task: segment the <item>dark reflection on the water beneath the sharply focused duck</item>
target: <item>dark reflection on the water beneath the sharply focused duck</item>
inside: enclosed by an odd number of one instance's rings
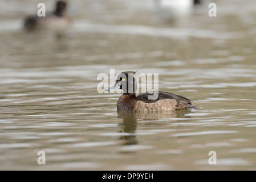
[[[180,110],[171,110],[171,111],[159,111],[147,113],[143,111],[117,111],[117,118],[122,118],[123,123],[119,124],[120,130],[119,133],[124,133],[121,140],[124,140],[124,145],[131,145],[139,143],[137,140],[136,129],[137,129],[137,119],[152,121],[162,119],[162,118],[190,118],[186,114],[191,113],[190,109],[180,109]]]

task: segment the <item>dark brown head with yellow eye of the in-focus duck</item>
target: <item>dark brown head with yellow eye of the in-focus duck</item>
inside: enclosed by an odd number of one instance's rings
[[[137,73],[133,71],[121,72],[116,79],[115,85],[107,89],[107,91],[121,89],[124,94],[134,95],[137,90]]]

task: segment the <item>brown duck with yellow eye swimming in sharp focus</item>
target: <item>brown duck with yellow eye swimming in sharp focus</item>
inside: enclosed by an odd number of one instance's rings
[[[117,100],[117,111],[170,111],[178,109],[199,109],[192,100],[170,92],[153,91],[140,93],[136,96],[137,73],[134,71],[121,72],[115,84],[106,91],[123,90]],[[151,96],[151,98],[149,97]],[[149,99],[150,98],[150,99]]]

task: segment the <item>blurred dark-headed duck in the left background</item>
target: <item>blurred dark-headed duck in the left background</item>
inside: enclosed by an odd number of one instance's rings
[[[56,1],[55,10],[46,12],[46,16],[28,16],[23,24],[25,30],[63,30],[68,28],[72,22],[67,15],[67,2]]]

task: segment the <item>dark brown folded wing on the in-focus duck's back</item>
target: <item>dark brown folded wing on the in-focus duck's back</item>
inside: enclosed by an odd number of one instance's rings
[[[149,96],[153,97],[153,99],[149,99],[150,98]],[[159,100],[168,99],[168,98],[176,100],[178,104],[192,104],[192,101],[186,97],[179,96],[179,95],[176,95],[176,94],[170,93],[170,92],[161,92],[161,91],[159,91],[159,92],[154,91],[151,93],[149,93],[149,92],[141,93],[141,94],[137,95],[136,100],[143,101],[146,103],[152,103],[152,102],[157,102]]]

